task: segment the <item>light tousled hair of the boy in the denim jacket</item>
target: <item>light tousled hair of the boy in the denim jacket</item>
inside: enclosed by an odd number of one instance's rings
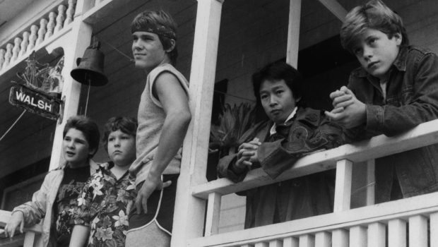
[[[380,0],[368,1],[348,12],[341,27],[341,44],[348,52],[354,54],[355,44],[365,32],[372,28],[384,32],[391,39],[396,33],[401,33],[401,45],[408,45],[408,34],[401,17]]]

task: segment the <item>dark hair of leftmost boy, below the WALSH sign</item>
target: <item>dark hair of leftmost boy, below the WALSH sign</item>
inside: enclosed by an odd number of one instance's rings
[[[88,141],[90,150],[94,150],[93,154],[89,158],[93,157],[99,148],[100,132],[99,127],[92,119],[87,116],[71,116],[67,120],[66,126],[64,126],[64,131],[62,132],[62,138],[66,137],[67,132],[75,128],[81,131]]]

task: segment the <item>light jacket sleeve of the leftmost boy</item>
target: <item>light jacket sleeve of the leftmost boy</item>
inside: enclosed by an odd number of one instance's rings
[[[50,179],[51,174],[45,176],[42,186],[39,191],[36,191],[32,195],[32,201],[19,205],[15,207],[12,212],[20,211],[23,212],[25,227],[32,227],[38,224],[46,214],[47,197],[49,193],[49,188],[51,186]]]

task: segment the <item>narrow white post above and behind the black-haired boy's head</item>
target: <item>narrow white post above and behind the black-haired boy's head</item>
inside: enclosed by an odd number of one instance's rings
[[[301,0],[290,0],[288,47],[286,50],[286,63],[294,68],[298,64],[298,48],[300,43]]]

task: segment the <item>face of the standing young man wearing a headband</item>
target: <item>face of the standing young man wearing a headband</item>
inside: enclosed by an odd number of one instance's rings
[[[158,35],[153,32],[134,32],[132,37],[132,54],[136,68],[151,71],[160,64],[170,63]]]

